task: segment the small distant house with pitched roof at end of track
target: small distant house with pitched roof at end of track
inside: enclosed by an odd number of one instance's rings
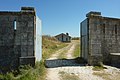
[[[61,42],[71,42],[71,37],[69,36],[68,33],[66,34],[61,33],[59,35],[56,35],[55,38]]]

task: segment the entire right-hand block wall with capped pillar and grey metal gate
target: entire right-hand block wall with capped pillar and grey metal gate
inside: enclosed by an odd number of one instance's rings
[[[103,17],[100,12],[86,17],[81,22],[81,56],[91,65],[120,64],[120,19]]]

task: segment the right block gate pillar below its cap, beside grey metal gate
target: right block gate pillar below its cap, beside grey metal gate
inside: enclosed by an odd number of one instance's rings
[[[102,23],[101,17],[89,17],[89,60],[91,65],[97,65],[103,61],[102,56]]]

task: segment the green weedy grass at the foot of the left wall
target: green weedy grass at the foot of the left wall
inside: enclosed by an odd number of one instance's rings
[[[18,71],[0,74],[0,80],[44,80],[45,67],[43,62],[36,62],[35,67],[21,66]],[[16,75],[17,73],[17,75]]]

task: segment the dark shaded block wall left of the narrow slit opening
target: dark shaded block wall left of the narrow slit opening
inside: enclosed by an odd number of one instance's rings
[[[14,53],[14,20],[16,16],[0,12],[0,69],[7,71],[18,66],[19,53]],[[17,63],[16,63],[17,62]],[[12,63],[12,64],[11,64]],[[0,71],[0,72],[1,72]]]

